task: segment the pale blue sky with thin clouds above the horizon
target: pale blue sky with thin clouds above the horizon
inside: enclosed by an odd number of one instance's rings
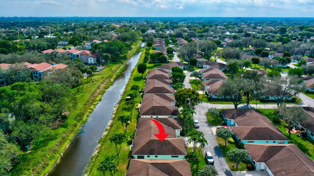
[[[314,17],[314,0],[0,0],[0,16]]]

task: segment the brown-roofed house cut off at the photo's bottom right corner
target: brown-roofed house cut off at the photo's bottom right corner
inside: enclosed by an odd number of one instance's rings
[[[314,162],[294,144],[245,144],[257,171],[269,176],[313,176]]]

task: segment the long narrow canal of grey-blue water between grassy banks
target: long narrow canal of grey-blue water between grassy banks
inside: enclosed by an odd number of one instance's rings
[[[140,46],[144,47],[145,43],[141,43]],[[122,95],[141,53],[142,52],[137,51],[129,59],[124,73],[106,90],[102,101],[95,107],[79,134],[74,138],[69,148],[63,154],[63,158],[61,158],[60,162],[48,176],[84,175],[90,158],[98,145],[98,140],[102,137],[111,119],[113,108]]]

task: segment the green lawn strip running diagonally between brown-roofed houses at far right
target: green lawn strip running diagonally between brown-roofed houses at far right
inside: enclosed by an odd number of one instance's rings
[[[279,123],[276,123],[274,121],[274,109],[258,109],[262,112],[263,115],[269,118],[271,122],[280,130],[282,131],[288,139],[291,141],[289,143],[295,144],[302,152],[307,154],[310,158],[314,159],[314,141],[309,139],[308,137],[299,137],[296,133],[291,133],[289,135],[287,124],[283,121],[280,121]]]

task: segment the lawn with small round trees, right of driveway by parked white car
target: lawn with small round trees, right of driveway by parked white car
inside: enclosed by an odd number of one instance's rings
[[[229,168],[231,171],[236,171],[236,163],[233,163],[229,160],[229,157],[227,156],[227,153],[228,151],[231,151],[233,149],[243,149],[242,147],[240,147],[239,145],[237,145],[237,141],[235,140],[235,142],[230,142],[230,141],[227,141],[227,145],[225,145],[225,140],[223,140],[222,138],[220,137],[217,137],[216,136],[216,139],[217,139],[217,143],[222,151],[222,153],[224,154],[224,156],[226,157],[226,160],[227,160],[227,163],[229,165]],[[246,164],[250,164],[249,162],[247,163],[239,163],[238,165],[238,171],[246,171]]]

